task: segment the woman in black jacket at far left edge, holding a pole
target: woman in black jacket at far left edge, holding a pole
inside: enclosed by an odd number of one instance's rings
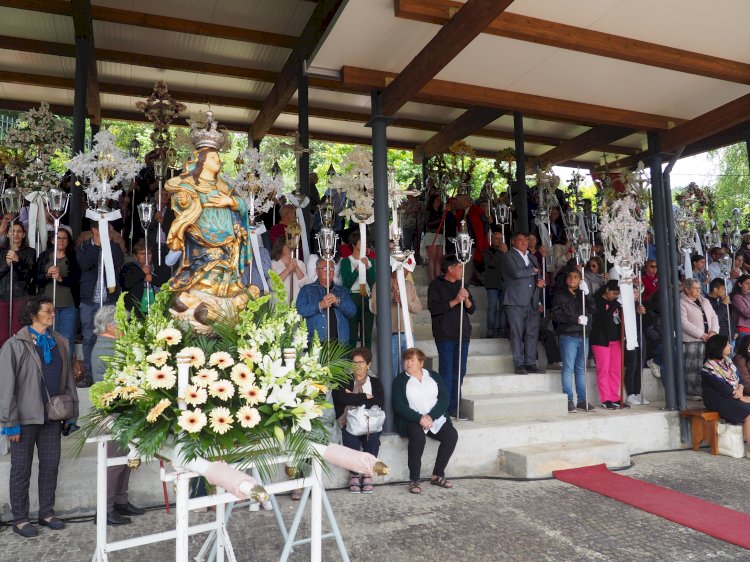
[[[11,272],[13,264],[13,319],[9,326],[11,297]],[[21,329],[21,312],[29,300],[36,294],[34,284],[36,254],[26,242],[26,229],[16,222],[10,232],[5,246],[0,249],[0,345]],[[8,328],[10,328],[10,333]]]

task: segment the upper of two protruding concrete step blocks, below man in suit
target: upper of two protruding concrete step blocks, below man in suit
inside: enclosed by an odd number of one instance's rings
[[[539,391],[462,395],[461,412],[479,422],[562,415],[568,413],[568,399],[559,392]]]

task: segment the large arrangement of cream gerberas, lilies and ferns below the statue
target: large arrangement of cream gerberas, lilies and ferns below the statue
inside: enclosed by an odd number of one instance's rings
[[[283,282],[271,276],[274,292],[283,295]],[[305,351],[304,321],[284,297],[272,302],[264,296],[244,310],[224,311],[213,323],[214,338],[177,324],[169,300],[161,291],[145,319],[129,319],[121,297],[121,335],[105,380],[91,387],[94,409],[83,420],[81,446],[106,427],[146,458],[165,444],[179,445],[187,460],[252,461],[262,470],[279,454],[297,464],[316,456],[310,445],[329,439],[322,418],[331,407],[326,393],[351,372],[346,349],[316,339]],[[190,369],[182,394],[178,356]]]

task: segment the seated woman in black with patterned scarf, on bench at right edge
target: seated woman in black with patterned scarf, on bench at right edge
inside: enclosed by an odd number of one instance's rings
[[[728,423],[742,424],[745,441],[750,443],[750,396],[743,394],[744,387],[729,358],[731,352],[726,336],[717,334],[708,338],[706,362],[701,369],[703,403],[709,410],[719,412]],[[747,456],[750,458],[750,451]]]

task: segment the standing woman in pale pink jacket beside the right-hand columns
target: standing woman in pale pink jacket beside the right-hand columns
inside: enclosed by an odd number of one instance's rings
[[[685,383],[689,400],[700,400],[701,368],[708,338],[719,333],[719,318],[711,303],[701,295],[700,282],[685,279],[680,295],[682,343],[685,351]]]

